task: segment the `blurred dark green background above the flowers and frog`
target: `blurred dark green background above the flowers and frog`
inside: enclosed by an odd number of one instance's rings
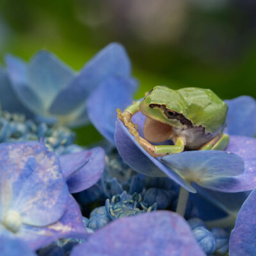
[[[6,52],[29,60],[48,49],[79,70],[117,41],[140,81],[137,99],[157,84],[256,97],[255,31],[252,0],[0,1],[1,63]]]

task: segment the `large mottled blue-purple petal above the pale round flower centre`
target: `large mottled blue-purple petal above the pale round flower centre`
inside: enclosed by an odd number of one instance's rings
[[[68,188],[52,152],[37,142],[1,143],[0,165],[3,214],[17,211],[22,223],[35,226],[60,219]]]

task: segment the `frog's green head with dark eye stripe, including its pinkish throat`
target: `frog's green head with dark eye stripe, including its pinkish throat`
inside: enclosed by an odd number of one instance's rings
[[[140,111],[147,116],[144,135],[149,132],[150,134],[154,133],[152,136],[158,134],[161,138],[147,139],[152,142],[161,142],[170,135],[172,127],[182,128],[191,125],[191,122],[186,118],[186,106],[186,101],[179,92],[165,86],[154,87],[141,101]],[[164,133],[166,135],[162,138],[161,135]]]

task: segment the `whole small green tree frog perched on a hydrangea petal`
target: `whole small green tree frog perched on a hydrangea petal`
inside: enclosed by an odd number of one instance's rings
[[[136,141],[151,156],[163,157],[188,150],[224,150],[228,135],[223,134],[228,106],[214,92],[202,88],[172,90],[154,87],[143,100],[120,109],[118,118],[129,128]],[[132,116],[141,111],[146,116],[144,138]],[[174,145],[153,145],[172,140]],[[150,143],[151,142],[151,143]]]

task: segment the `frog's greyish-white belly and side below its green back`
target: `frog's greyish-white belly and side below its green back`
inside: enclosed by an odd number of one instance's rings
[[[205,132],[204,127],[189,127],[189,128],[175,128],[173,127],[173,133],[178,137],[185,138],[186,147],[189,149],[198,149],[205,143],[211,141],[217,134]]]

